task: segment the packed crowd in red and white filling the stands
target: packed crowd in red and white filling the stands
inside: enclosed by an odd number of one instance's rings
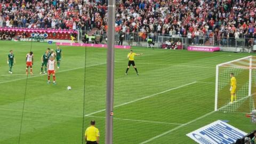
[[[116,31],[126,35],[180,36],[202,43],[256,38],[253,0],[129,0],[117,1]],[[105,0],[0,1],[0,27],[107,30]],[[214,38],[215,39],[214,39]],[[221,39],[220,39],[221,38]],[[213,41],[213,39],[215,41]]]

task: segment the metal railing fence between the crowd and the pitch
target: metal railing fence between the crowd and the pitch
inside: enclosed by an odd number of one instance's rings
[[[106,43],[107,33],[106,31],[80,31],[81,37],[84,38],[85,33],[95,35],[95,39],[98,43]],[[120,33],[116,33],[115,41],[118,44]],[[123,42],[131,46],[144,46],[142,43],[147,43],[147,38],[151,37],[156,43],[155,47],[162,47],[162,44],[166,41],[178,42],[183,45],[183,49],[187,49],[189,45],[204,45],[204,46],[225,46],[225,47],[246,47],[252,48],[256,45],[255,38],[235,38],[235,37],[210,37],[210,36],[198,36],[188,38],[185,35],[169,35],[169,34],[157,34],[157,33],[125,33]]]

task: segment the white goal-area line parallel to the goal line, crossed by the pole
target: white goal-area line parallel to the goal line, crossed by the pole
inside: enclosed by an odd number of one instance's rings
[[[129,103],[139,101],[139,100],[143,100],[143,99],[147,99],[147,98],[150,98],[150,97],[154,97],[155,95],[162,94],[162,93],[165,93],[165,92],[169,92],[169,91],[172,91],[172,90],[176,90],[176,89],[179,89],[180,87],[184,87],[184,86],[187,86],[187,85],[190,85],[190,84],[194,84],[194,83],[196,83],[196,82],[192,82],[192,83],[188,83],[188,84],[181,85],[181,86],[178,86],[178,87],[174,87],[174,88],[172,88],[172,89],[169,89],[169,90],[166,90],[166,91],[162,91],[162,92],[159,92],[159,93],[155,93],[155,94],[151,94],[151,95],[148,95],[147,97],[143,97],[143,98],[136,99],[136,100],[133,100],[133,101],[125,102],[125,103],[122,103],[122,104],[120,104],[120,105],[114,106],[114,108],[116,108],[116,107],[121,107],[121,106],[127,105],[127,104],[129,104]],[[105,110],[106,110],[106,109],[101,109],[101,110],[99,110],[99,111],[95,111],[95,112],[90,113],[90,114],[87,114],[87,115],[85,115],[85,116],[90,116],[90,115],[93,115],[93,114],[97,114],[97,113],[100,113],[100,112],[105,111]]]

